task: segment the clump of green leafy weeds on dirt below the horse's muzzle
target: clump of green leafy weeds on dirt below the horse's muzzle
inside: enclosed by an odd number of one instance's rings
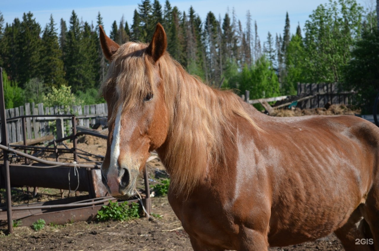
[[[96,216],[98,221],[126,221],[134,218],[139,218],[139,205],[135,202],[129,205],[127,201],[122,203],[109,201],[108,205],[102,206],[102,208],[97,211]]]

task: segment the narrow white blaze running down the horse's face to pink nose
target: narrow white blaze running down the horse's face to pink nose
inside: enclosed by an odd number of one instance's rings
[[[111,158],[108,169],[107,183],[111,190],[111,195],[120,195],[119,184],[121,178],[119,177],[119,169],[117,168],[117,160],[120,155],[120,132],[121,132],[121,112],[122,104],[118,107],[116,121],[114,122],[113,140],[111,144]]]

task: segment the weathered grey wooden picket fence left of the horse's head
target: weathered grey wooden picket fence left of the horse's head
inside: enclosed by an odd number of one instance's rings
[[[44,115],[74,114],[77,116],[77,124],[83,127],[92,127],[97,121],[105,121],[108,116],[106,103],[96,105],[72,105],[71,107],[44,107],[43,103],[26,103],[20,107],[6,109],[6,118],[11,119],[23,115],[41,115],[37,118],[26,118],[26,138],[31,140],[49,135],[56,130],[57,138],[63,138],[72,130],[72,120],[60,117],[44,117]],[[23,129],[21,119],[7,121],[8,141],[15,143],[23,141]],[[1,140],[1,138],[0,138]]]

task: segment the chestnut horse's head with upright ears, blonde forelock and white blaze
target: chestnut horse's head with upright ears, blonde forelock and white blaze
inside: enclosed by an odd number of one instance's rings
[[[109,129],[102,180],[110,195],[126,199],[149,152],[167,137],[169,118],[158,64],[167,54],[167,38],[158,24],[148,46],[135,42],[120,46],[100,27],[100,42],[111,62],[101,87]]]

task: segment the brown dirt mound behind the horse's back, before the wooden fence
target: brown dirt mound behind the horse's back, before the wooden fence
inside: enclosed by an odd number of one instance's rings
[[[298,117],[304,115],[355,115],[360,114],[360,110],[353,110],[346,105],[330,105],[328,108],[291,109],[275,110],[272,116],[276,117]]]

